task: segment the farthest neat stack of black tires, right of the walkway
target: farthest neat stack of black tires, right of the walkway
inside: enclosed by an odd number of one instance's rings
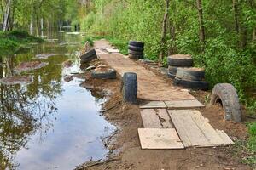
[[[144,42],[130,41],[128,54],[130,59],[143,59]]]

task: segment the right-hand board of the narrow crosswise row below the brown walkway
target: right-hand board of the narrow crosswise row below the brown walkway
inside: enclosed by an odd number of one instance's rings
[[[187,109],[205,107],[197,99],[165,101],[168,109]]]

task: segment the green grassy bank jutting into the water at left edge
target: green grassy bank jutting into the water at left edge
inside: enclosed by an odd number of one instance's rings
[[[21,48],[30,47],[31,42],[42,42],[38,37],[30,36],[26,31],[0,31],[0,55],[15,54]]]

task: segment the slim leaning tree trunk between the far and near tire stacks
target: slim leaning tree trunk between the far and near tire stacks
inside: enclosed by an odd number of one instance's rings
[[[166,26],[167,26],[169,7],[170,7],[170,0],[166,0],[166,12],[165,12],[164,20],[162,24],[161,47],[165,47],[166,45]],[[165,55],[165,52],[164,52],[164,49],[162,48],[160,52],[160,62],[164,59],[164,55]]]

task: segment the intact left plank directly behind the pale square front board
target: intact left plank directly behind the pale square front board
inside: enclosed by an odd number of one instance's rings
[[[142,109],[141,116],[145,128],[162,128],[159,117],[156,115],[154,109]]]

